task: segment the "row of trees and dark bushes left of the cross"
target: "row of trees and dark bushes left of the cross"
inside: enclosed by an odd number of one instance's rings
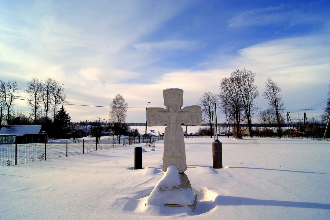
[[[69,113],[64,107],[58,108],[61,103],[67,103],[64,93],[64,84],[60,85],[54,79],[31,79],[27,83],[26,97],[30,107],[29,116],[21,110],[14,110],[14,100],[22,96],[18,94],[20,87],[14,81],[0,80],[0,128],[2,125],[41,125],[42,131],[48,133],[53,139],[71,138],[80,142],[84,136],[91,136],[98,142],[105,133],[116,136],[118,143],[122,135],[139,136],[137,129],[126,125],[127,103],[117,94],[110,104],[109,121],[97,117],[88,122],[88,132],[82,129],[83,123],[72,123]],[[52,111],[53,114],[50,114]],[[3,123],[4,122],[4,123]]]

